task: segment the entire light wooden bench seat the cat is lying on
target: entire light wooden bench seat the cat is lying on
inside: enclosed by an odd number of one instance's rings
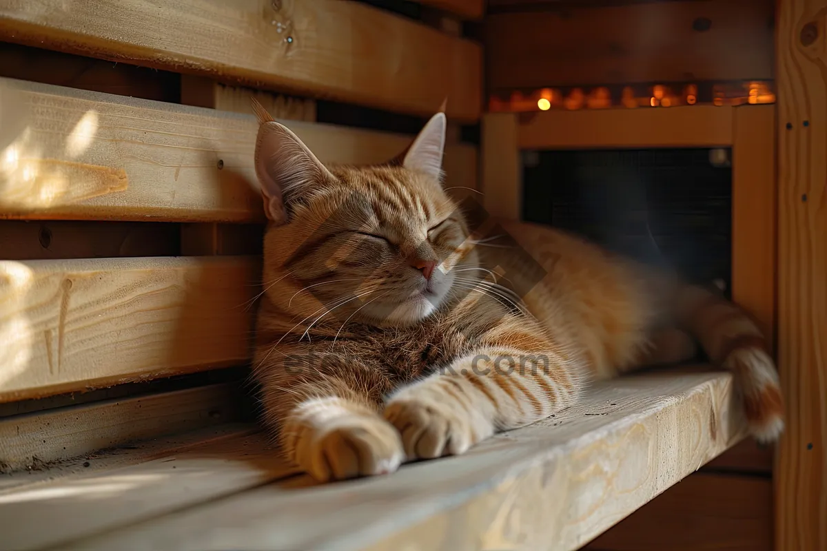
[[[325,485],[282,463],[252,425],[228,425],[179,447],[136,445],[131,462],[121,450],[88,468],[7,477],[3,540],[13,549],[579,549],[742,439],[736,403],[731,375],[708,366],[641,373],[461,457]]]

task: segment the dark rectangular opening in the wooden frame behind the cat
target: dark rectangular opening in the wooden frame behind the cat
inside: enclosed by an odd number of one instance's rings
[[[570,230],[692,282],[731,274],[729,149],[523,154],[523,219]]]

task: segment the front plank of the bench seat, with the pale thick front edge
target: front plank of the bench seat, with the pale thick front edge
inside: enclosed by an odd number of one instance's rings
[[[322,486],[301,477],[61,547],[577,549],[737,442],[734,403],[728,373],[638,374],[460,457]]]

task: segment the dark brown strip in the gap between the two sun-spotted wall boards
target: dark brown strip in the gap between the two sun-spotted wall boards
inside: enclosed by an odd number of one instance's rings
[[[0,260],[176,256],[179,229],[160,222],[0,221]]]

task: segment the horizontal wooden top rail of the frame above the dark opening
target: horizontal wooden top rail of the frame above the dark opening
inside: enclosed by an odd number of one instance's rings
[[[694,105],[521,113],[518,145],[528,150],[728,146],[733,109]]]

